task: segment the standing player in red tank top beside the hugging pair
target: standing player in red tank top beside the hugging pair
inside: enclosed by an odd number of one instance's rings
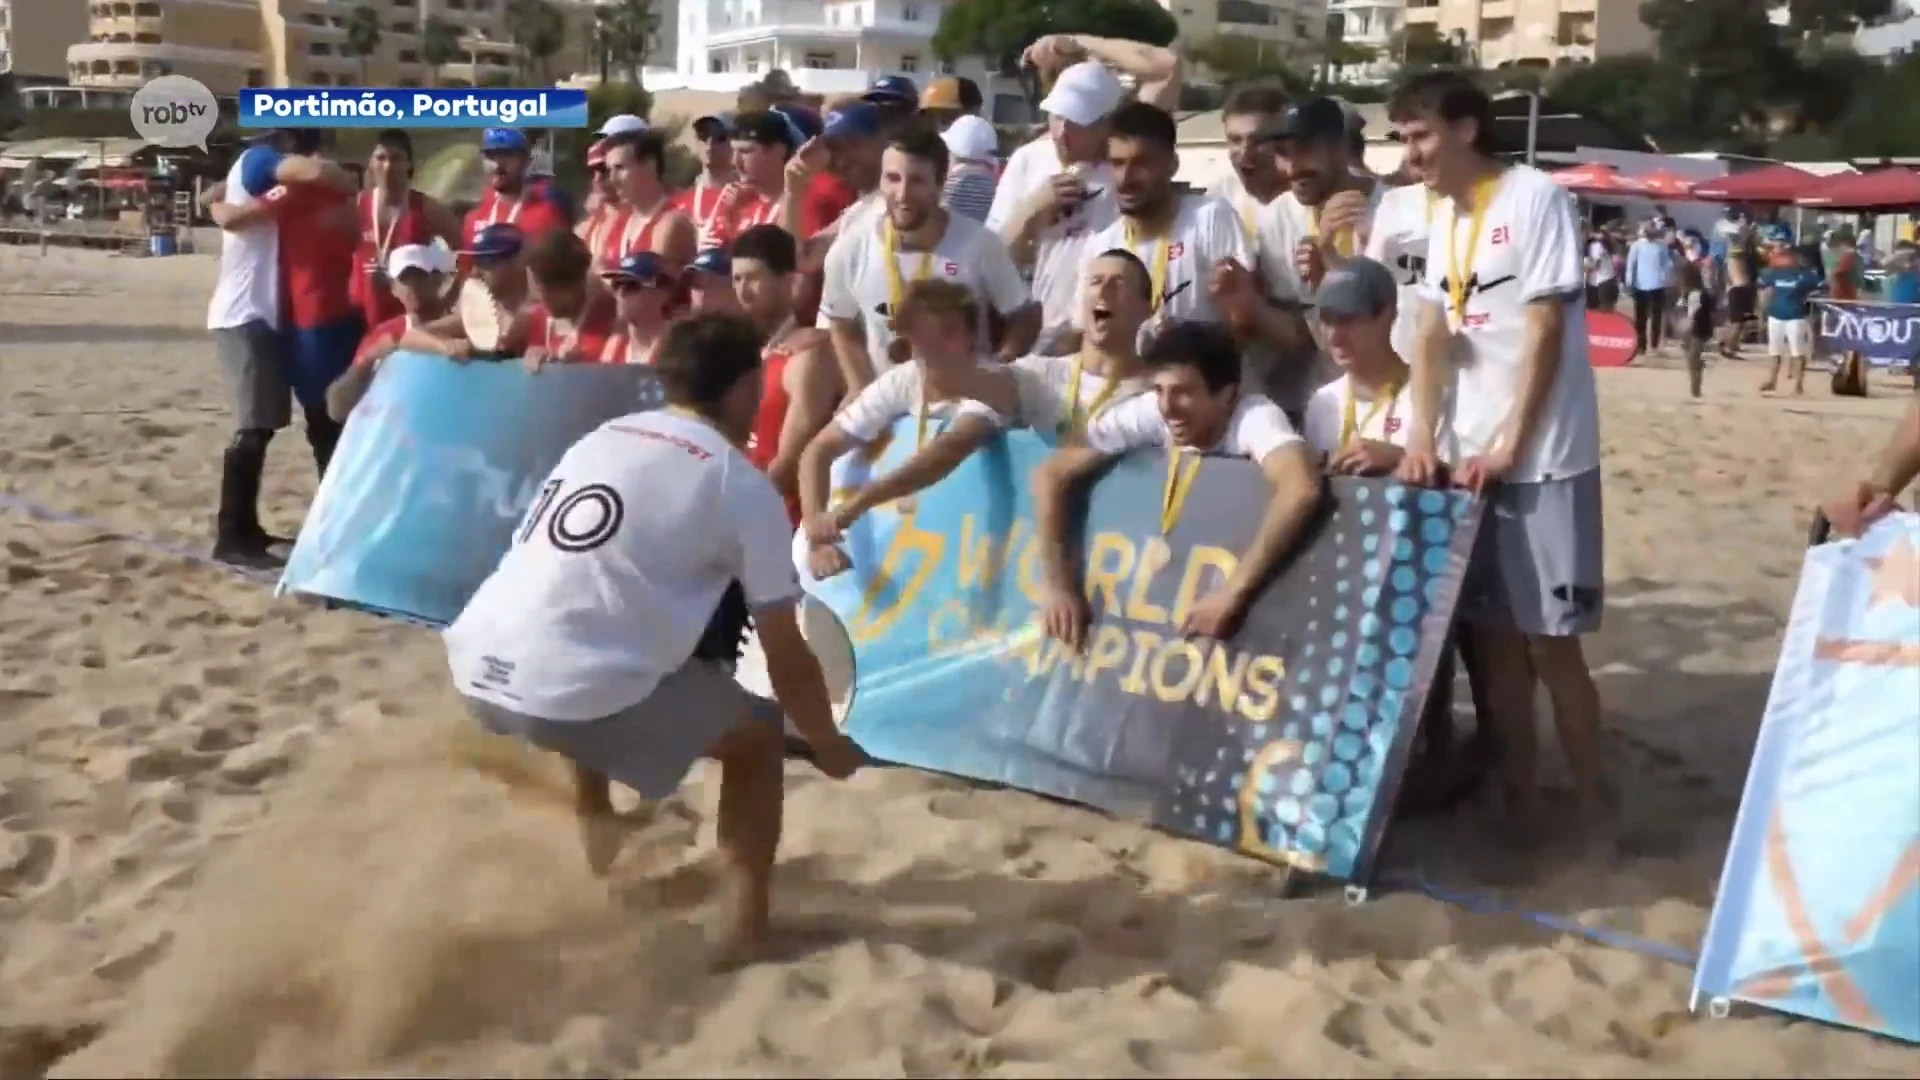
[[[359,192],[359,248],[353,252],[353,300],[369,329],[403,313],[388,279],[394,252],[440,240],[461,246],[461,219],[424,192],[413,190],[413,136],[382,131],[367,156],[367,190]]]

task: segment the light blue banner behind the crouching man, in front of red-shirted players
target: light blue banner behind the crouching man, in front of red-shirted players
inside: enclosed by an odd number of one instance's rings
[[[659,404],[634,365],[394,354],[348,417],[278,592],[445,625],[580,436]]]

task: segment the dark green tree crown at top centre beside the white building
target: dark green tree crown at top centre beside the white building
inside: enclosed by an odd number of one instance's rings
[[[1000,71],[1046,35],[1100,35],[1171,44],[1181,27],[1156,0],[958,0],[941,13],[933,52],[941,60],[985,56]]]

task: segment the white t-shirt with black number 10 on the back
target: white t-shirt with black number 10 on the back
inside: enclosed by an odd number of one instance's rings
[[[545,721],[611,717],[693,657],[735,580],[749,607],[801,596],[774,484],[693,417],[609,421],[561,457],[447,626],[453,686]]]

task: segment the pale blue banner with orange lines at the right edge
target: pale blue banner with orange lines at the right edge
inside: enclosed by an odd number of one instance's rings
[[[1693,980],[1920,1042],[1920,515],[1807,553]]]

